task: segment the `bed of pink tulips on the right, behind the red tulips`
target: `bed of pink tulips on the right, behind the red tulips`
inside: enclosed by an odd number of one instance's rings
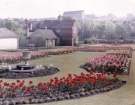
[[[129,73],[130,60],[127,54],[108,53],[103,56],[89,58],[88,62],[81,65],[87,71],[108,73]]]

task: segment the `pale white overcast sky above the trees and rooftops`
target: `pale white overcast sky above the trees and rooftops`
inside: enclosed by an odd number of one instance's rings
[[[135,0],[0,0],[0,18],[48,18],[76,10],[97,16],[135,15]]]

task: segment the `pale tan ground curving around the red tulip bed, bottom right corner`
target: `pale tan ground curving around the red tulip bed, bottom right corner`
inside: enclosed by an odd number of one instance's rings
[[[84,54],[85,55],[85,54]],[[127,84],[119,89],[75,100],[44,103],[40,105],[134,105],[135,103],[135,52],[131,63]],[[35,104],[36,105],[36,104]]]

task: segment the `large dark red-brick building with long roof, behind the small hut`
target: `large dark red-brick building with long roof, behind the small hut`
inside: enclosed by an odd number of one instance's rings
[[[44,21],[31,21],[30,32],[37,29],[50,29],[59,38],[60,46],[74,46],[78,44],[78,30],[73,19],[55,19]]]

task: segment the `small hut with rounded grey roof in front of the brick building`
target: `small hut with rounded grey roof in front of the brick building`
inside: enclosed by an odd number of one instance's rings
[[[53,48],[59,42],[59,38],[50,29],[37,29],[29,36],[29,44],[34,47]]]

